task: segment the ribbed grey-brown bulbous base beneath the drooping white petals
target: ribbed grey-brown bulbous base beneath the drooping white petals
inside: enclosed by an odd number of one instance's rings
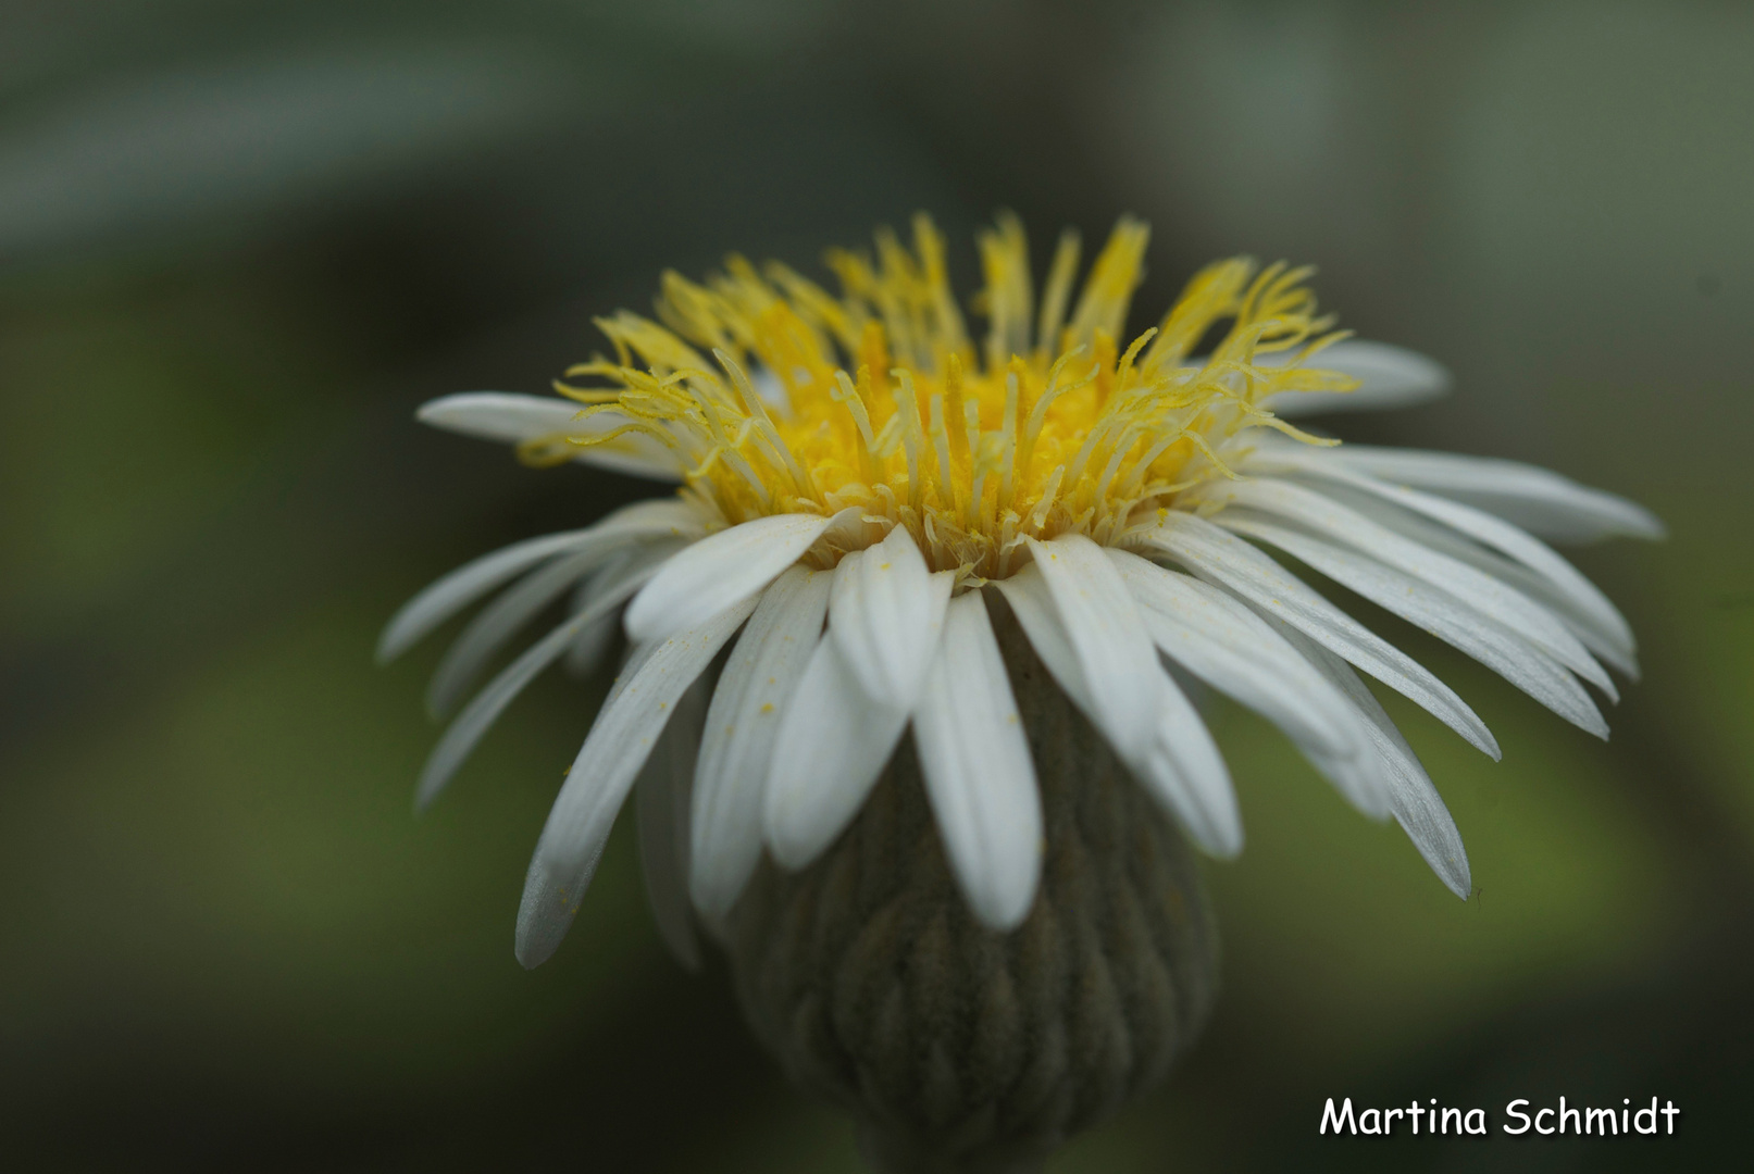
[[[802,873],[763,860],[728,927],[756,1034],[891,1174],[1037,1169],[1163,1079],[1214,997],[1191,848],[995,619],[1045,817],[1028,920],[968,913],[903,739],[840,841]]]

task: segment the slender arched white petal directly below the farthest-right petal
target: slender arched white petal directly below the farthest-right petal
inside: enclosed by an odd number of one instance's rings
[[[1615,648],[1631,655],[1635,647],[1633,629],[1619,613],[1619,608],[1608,603],[1608,598],[1552,547],[1484,510],[1417,489],[1391,485],[1375,477],[1352,471],[1328,459],[1331,452],[1307,445],[1263,445],[1244,459],[1244,468],[1261,473],[1308,473],[1310,477],[1338,482],[1447,526],[1458,534],[1466,534],[1473,541],[1521,562],[1545,580],[1549,589],[1565,599],[1570,610],[1586,619],[1596,631],[1607,634]]]

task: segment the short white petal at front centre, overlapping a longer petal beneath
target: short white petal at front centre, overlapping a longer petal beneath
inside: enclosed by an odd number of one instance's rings
[[[828,634],[865,692],[888,708],[910,710],[919,697],[954,582],[949,571],[926,569],[905,526],[835,568]]]

